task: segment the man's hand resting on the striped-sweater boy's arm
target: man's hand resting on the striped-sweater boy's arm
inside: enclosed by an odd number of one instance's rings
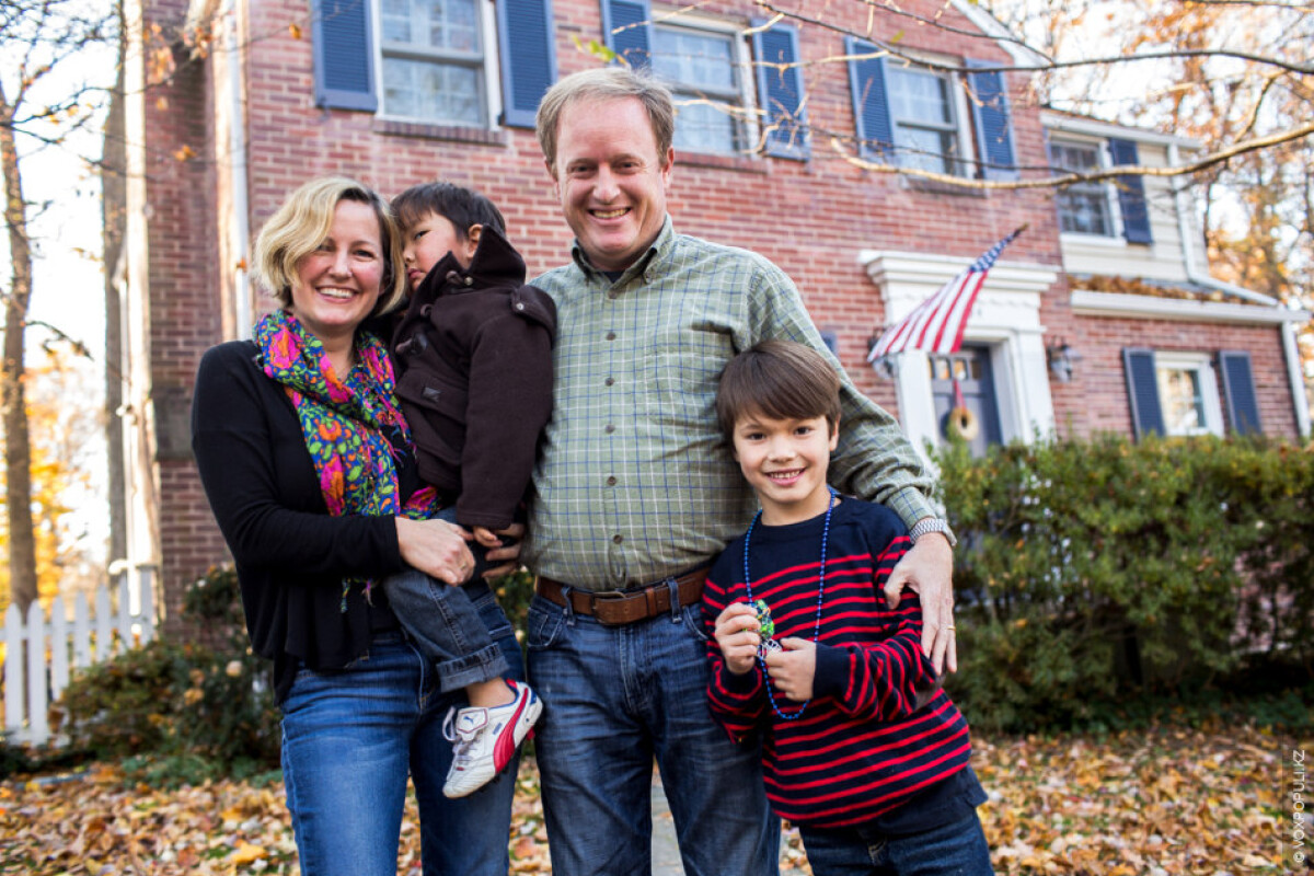
[[[895,608],[905,587],[921,596],[921,649],[937,675],[958,671],[954,637],[954,549],[942,533],[917,538],[886,580],[886,604]]]

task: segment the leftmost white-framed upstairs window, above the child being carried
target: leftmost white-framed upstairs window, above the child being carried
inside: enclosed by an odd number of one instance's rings
[[[497,39],[487,0],[378,0],[380,113],[490,127]]]

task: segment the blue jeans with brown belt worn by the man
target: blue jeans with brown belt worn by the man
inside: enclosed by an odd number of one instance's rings
[[[654,756],[686,876],[779,872],[761,751],[712,721],[706,641],[700,604],[604,626],[535,596],[530,683],[544,703],[535,750],[555,876],[652,872]]]

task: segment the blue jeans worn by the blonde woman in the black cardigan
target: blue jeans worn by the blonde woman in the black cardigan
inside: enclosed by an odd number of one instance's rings
[[[524,678],[520,649],[491,594],[476,600]],[[407,775],[419,801],[426,876],[506,876],[519,760],[461,800],[443,796],[443,738],[461,691],[443,693],[431,663],[401,633],[376,636],[344,670],[302,668],[283,704],[283,777],[302,876],[394,876]]]

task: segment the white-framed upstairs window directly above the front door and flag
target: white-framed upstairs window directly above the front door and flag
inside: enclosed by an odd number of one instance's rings
[[[890,64],[890,122],[899,164],[934,173],[962,175],[962,134],[949,75]]]

